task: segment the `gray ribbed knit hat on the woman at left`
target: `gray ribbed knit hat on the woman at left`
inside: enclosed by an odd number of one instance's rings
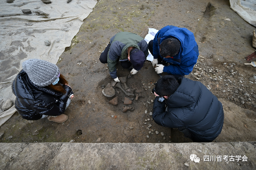
[[[57,80],[60,69],[53,63],[41,59],[28,59],[22,63],[28,78],[38,86],[47,86]]]

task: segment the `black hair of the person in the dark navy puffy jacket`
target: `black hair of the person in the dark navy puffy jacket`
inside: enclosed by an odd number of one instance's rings
[[[156,94],[159,96],[170,96],[178,89],[178,82],[173,75],[164,75],[156,82]]]

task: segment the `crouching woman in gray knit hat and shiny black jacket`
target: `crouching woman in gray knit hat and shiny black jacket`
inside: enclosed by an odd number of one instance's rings
[[[12,84],[16,96],[15,108],[27,120],[46,118],[63,123],[64,115],[74,93],[53,63],[40,59],[28,59],[22,63],[23,70]]]

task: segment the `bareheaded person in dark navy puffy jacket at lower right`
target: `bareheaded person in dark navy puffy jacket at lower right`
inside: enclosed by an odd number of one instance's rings
[[[173,75],[165,75],[152,92],[156,96],[152,116],[157,124],[178,128],[193,142],[211,142],[221,133],[222,104],[201,82],[188,78],[177,82]]]

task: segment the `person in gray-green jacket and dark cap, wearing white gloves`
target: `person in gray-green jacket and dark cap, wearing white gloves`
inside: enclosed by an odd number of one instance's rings
[[[109,73],[114,81],[120,82],[116,75],[116,63],[120,61],[124,69],[131,66],[131,74],[140,70],[148,56],[148,44],[136,33],[119,32],[110,39],[108,46],[100,55],[101,63],[108,63]]]

